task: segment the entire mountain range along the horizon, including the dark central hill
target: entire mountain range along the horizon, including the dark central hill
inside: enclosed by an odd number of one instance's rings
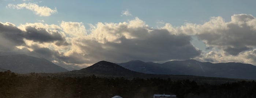
[[[256,66],[242,63],[210,63],[196,60],[168,61],[166,63],[133,60],[126,63],[100,61],[92,66],[68,71],[44,58],[15,54],[0,56],[0,71],[15,73],[56,73],[66,72],[79,75],[119,77],[164,77],[164,75],[193,75],[220,78],[256,79]],[[168,76],[167,76],[168,77]]]

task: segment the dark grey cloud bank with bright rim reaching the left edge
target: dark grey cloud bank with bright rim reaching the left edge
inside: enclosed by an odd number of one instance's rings
[[[60,35],[57,31],[51,31],[50,33],[43,28],[36,29],[35,27],[28,26],[26,31],[18,29],[11,23],[0,23],[0,46],[7,47],[7,49],[13,48],[24,44],[24,38],[32,40],[34,42],[55,42],[56,45],[68,45],[66,39]],[[3,43],[7,42],[9,43]]]

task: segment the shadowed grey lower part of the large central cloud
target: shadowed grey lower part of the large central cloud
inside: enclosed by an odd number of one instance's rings
[[[138,32],[142,31],[142,32]],[[201,54],[190,43],[188,35],[172,35],[165,29],[133,31],[138,38],[127,39],[121,37],[120,43],[100,43],[94,40],[83,40],[81,49],[86,50],[85,57],[93,62],[107,60],[123,62],[129,60],[166,61],[171,59],[191,59]],[[143,35],[143,36],[142,36]]]

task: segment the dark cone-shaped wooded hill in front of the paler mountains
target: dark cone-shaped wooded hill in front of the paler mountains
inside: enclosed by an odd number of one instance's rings
[[[84,73],[84,74],[94,74],[100,76],[140,76],[144,75],[145,73],[131,71],[129,69],[123,68],[120,65],[115,63],[111,63],[108,61],[99,61],[98,63],[93,64],[92,66],[71,71],[72,73]]]

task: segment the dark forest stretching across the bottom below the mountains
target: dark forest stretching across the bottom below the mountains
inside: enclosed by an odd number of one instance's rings
[[[178,98],[256,98],[256,83],[197,83],[188,79],[103,78],[27,75],[0,72],[0,98],[153,98],[174,94]]]

